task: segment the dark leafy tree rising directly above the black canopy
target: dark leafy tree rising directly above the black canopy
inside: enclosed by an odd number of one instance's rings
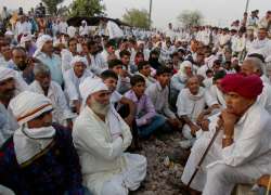
[[[105,6],[101,0],[75,0],[69,16],[95,16],[104,14]]]

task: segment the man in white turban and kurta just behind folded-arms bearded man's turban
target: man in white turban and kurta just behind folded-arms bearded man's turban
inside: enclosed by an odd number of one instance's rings
[[[86,57],[76,55],[70,62],[72,69],[64,74],[65,92],[69,101],[69,106],[79,114],[81,106],[81,96],[79,93],[79,84],[87,78],[93,77],[93,74],[87,68],[88,62]]]

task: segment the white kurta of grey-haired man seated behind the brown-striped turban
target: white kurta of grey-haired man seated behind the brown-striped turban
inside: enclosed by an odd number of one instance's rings
[[[29,86],[29,90],[36,93],[44,94],[37,80]],[[75,118],[75,115],[70,112],[64,92],[59,83],[51,81],[47,98],[51,100],[53,105],[52,114],[54,122],[65,126],[66,119]]]

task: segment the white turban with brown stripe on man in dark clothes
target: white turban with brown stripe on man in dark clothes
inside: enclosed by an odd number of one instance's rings
[[[30,91],[20,93],[11,100],[9,106],[21,126],[53,109],[50,99]]]

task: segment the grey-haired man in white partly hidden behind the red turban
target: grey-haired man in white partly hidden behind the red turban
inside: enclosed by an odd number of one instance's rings
[[[258,102],[271,114],[271,87],[263,75],[264,64],[257,57],[246,57],[241,66],[242,74],[246,76],[257,75],[263,81],[263,90],[258,96]]]

